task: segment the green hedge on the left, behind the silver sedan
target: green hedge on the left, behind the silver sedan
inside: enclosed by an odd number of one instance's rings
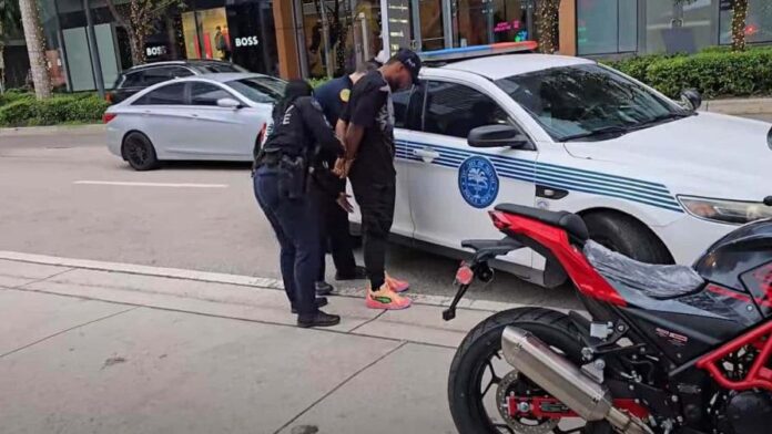
[[[109,105],[94,94],[62,95],[43,101],[19,99],[0,106],[0,126],[94,123],[102,118]]]

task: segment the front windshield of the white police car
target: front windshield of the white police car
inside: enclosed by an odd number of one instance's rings
[[[558,142],[605,140],[689,115],[597,64],[553,68],[496,82]]]

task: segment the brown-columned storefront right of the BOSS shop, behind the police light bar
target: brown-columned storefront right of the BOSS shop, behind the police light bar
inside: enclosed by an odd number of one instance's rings
[[[294,0],[302,71],[339,75],[400,46],[416,51],[534,37],[536,0]]]

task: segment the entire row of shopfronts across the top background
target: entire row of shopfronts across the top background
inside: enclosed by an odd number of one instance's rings
[[[90,4],[105,87],[131,66],[105,0],[39,0],[53,83],[95,89]],[[121,4],[129,0],[114,0]],[[184,0],[153,23],[148,61],[225,59],[283,78],[336,76],[399,46],[438,50],[538,38],[540,0]],[[731,43],[731,1],[562,0],[559,51],[583,56],[693,52]],[[750,0],[748,42],[772,42],[772,1]]]

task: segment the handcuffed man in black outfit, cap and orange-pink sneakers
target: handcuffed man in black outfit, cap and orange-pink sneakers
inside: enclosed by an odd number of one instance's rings
[[[400,49],[385,65],[356,83],[341,116],[347,124],[346,155],[336,164],[336,173],[348,176],[362,209],[365,267],[370,280],[366,306],[372,309],[410,306],[410,299],[398,293],[409,286],[387,276],[385,261],[396,200],[392,91],[416,83],[419,71],[418,55]]]

